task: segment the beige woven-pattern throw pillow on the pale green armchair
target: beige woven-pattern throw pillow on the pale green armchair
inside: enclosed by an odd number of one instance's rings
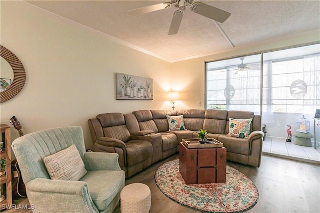
[[[78,181],[87,172],[74,144],[44,157],[43,162],[52,180]]]

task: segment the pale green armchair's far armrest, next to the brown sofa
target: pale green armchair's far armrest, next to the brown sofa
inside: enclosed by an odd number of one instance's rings
[[[85,152],[83,163],[87,171],[92,170],[121,170],[117,153]]]

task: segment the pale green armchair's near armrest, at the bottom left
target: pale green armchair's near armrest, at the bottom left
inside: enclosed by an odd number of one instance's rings
[[[98,213],[83,181],[35,178],[26,184],[26,190],[30,205],[36,212]]]

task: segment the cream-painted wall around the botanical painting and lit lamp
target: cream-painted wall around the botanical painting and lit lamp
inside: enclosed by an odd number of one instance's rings
[[[14,115],[24,133],[81,125],[88,149],[92,142],[87,119],[99,113],[171,109],[167,101],[171,88],[180,92],[176,109],[203,109],[205,60],[319,39],[318,31],[314,31],[168,63],[112,42],[101,33],[12,1],[1,1],[0,10],[1,45],[20,59],[26,71],[22,91],[0,105],[1,123],[8,124]],[[152,78],[153,100],[115,100],[116,72]]]

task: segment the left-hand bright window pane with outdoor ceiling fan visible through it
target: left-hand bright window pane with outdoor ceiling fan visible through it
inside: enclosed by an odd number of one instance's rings
[[[260,109],[260,55],[206,64],[206,108],[253,111]]]

